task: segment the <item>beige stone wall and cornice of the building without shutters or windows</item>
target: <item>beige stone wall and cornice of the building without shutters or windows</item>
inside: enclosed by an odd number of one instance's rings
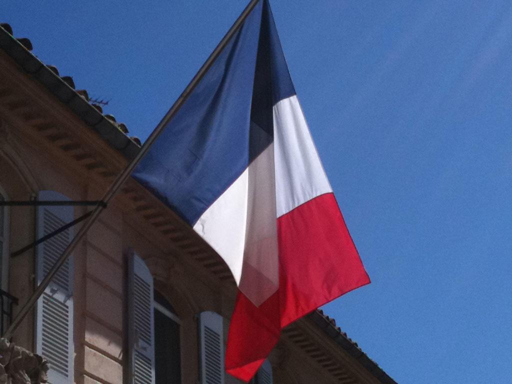
[[[4,59],[0,52],[0,77],[7,79],[7,69],[9,77],[18,72],[10,63],[3,62]],[[13,82],[16,84],[13,89],[17,92],[22,86],[27,88],[21,90],[25,92],[22,99],[27,101],[26,110],[10,111],[12,104],[0,94],[0,185],[11,200],[27,200],[44,189],[58,191],[74,200],[99,199],[112,180],[108,176],[98,176],[103,168],[95,165],[96,158],[103,161],[102,166],[105,167],[121,166],[125,159],[72,115],[69,109],[53,96],[45,94],[47,91],[40,84],[25,74],[19,76]],[[2,87],[3,84],[0,84]],[[39,104],[35,114],[31,103]],[[45,116],[34,120],[33,116],[41,116],[42,111]],[[44,131],[28,127],[22,120],[24,116],[32,119],[30,123],[36,127],[45,124],[47,127]],[[62,138],[66,136],[62,135],[63,131],[70,137],[76,137]],[[46,136],[43,137],[41,132]],[[77,157],[78,152],[70,149],[75,148],[77,142],[80,145],[84,143],[85,149],[82,149],[87,156]],[[67,147],[68,152],[63,151],[63,147]],[[139,196],[139,191],[133,192],[133,186],[130,188],[132,198],[124,196],[114,199],[74,251],[74,381],[79,384],[123,384],[123,365],[126,362],[124,255],[128,249],[134,249],[152,271],[155,288],[177,311],[181,321],[182,382],[196,384],[199,379],[198,315],[201,311],[215,311],[229,318],[236,287],[223,262],[219,262],[218,258],[216,260],[215,255],[212,257],[211,250],[204,251],[204,245],[193,236],[187,237],[188,229],[183,229],[176,215],[172,212],[162,214],[162,209],[168,209],[159,207],[154,197],[153,200],[144,197],[142,192]],[[142,203],[137,205],[137,201]],[[84,214],[87,209],[77,207],[75,217]],[[167,220],[169,217],[171,221],[160,227],[164,231],[159,232],[158,228],[152,226],[152,221]],[[11,251],[34,240],[34,218],[33,207],[11,209]],[[9,291],[23,304],[33,288],[32,249],[11,259]],[[15,308],[15,313],[19,308]],[[311,339],[318,341],[322,337],[325,336],[313,334]],[[15,332],[13,339],[26,349],[34,349],[33,312]],[[328,345],[329,340],[321,340],[320,344]],[[331,356],[337,358],[337,347],[331,347]],[[293,344],[283,337],[270,358],[274,367],[274,383],[375,382],[370,376],[367,380],[360,367],[353,370],[357,375],[349,374],[350,364],[347,364],[348,373],[343,381],[336,380],[328,370],[301,352],[301,348],[300,343]],[[317,348],[321,356],[322,347]],[[354,381],[352,377],[359,379]],[[226,382],[239,383],[230,377]]]

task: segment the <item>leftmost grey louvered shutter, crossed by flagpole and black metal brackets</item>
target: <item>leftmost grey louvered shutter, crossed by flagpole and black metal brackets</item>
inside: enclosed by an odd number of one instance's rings
[[[38,200],[69,200],[54,191],[40,191]],[[39,239],[74,219],[72,206],[38,206],[36,237]],[[36,279],[39,284],[73,237],[68,228],[36,248]],[[36,351],[50,362],[48,382],[74,382],[73,357],[73,256],[60,267],[37,302]]]

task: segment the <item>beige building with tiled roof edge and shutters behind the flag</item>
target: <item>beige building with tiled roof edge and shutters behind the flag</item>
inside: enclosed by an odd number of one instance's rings
[[[31,49],[2,25],[0,200],[99,200],[140,141]],[[3,331],[81,224],[26,246],[91,209],[0,207]],[[10,341],[48,360],[51,384],[236,383],[223,370],[236,292],[219,255],[129,180]],[[394,382],[321,311],[284,330],[254,381]]]

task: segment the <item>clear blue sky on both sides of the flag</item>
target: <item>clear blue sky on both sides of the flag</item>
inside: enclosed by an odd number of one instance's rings
[[[3,2],[146,138],[245,1]],[[512,3],[271,1],[372,284],[327,313],[400,383],[508,383]]]

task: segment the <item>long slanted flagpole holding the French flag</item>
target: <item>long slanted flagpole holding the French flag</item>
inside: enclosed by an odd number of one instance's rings
[[[85,236],[87,231],[91,228],[91,226],[94,224],[96,219],[99,217],[101,212],[103,211],[103,208],[112,200],[112,198],[116,195],[119,188],[124,184],[127,178],[130,177],[133,170],[137,166],[137,164],[140,162],[140,160],[144,157],[144,155],[147,153],[147,151],[150,149],[151,145],[155,142],[157,137],[160,135],[162,130],[164,129],[165,125],[173,119],[173,117],[176,115],[176,113],[179,111],[183,103],[188,99],[192,91],[196,88],[197,84],[201,81],[201,79],[204,77],[206,72],[208,72],[208,69],[211,67],[211,65],[214,63],[214,61],[219,57],[222,50],[226,47],[229,40],[233,35],[240,29],[242,24],[244,23],[245,19],[251,11],[254,9],[254,7],[258,4],[260,0],[251,0],[247,7],[243,10],[243,12],[240,14],[238,19],[234,22],[234,24],[231,26],[231,28],[227,31],[225,36],[222,38],[222,40],[219,42],[215,50],[210,54],[208,59],[204,62],[203,66],[199,69],[199,71],[196,73],[194,78],[189,82],[188,86],[185,88],[185,90],[181,93],[181,95],[178,97],[178,99],[175,101],[172,107],[167,111],[165,116],[162,118],[162,120],[158,123],[155,130],[151,133],[151,135],[147,138],[147,140],[144,142],[142,147],[140,148],[140,151],[137,153],[137,155],[132,159],[132,161],[126,165],[126,168],[124,168],[123,172],[119,174],[119,176],[116,178],[116,180],[112,183],[110,188],[105,192],[103,195],[103,198],[101,199],[101,204],[96,205],[96,207],[92,210],[92,214],[89,217],[89,220],[78,230],[76,233],[76,236],[73,238],[73,240],[69,243],[68,247],[65,249],[65,251],[62,252],[59,259],[55,262],[55,264],[52,266],[50,271],[48,271],[48,274],[46,277],[41,281],[41,283],[36,287],[34,290],[34,293],[32,296],[29,297],[29,300],[25,303],[22,309],[18,312],[18,314],[14,317],[11,325],[7,329],[7,331],[2,335],[2,337],[10,338],[12,336],[12,333],[16,330],[16,328],[22,323],[23,319],[27,316],[29,311],[32,309],[34,304],[37,302],[41,294],[45,291],[45,289],[48,287],[48,284],[50,284],[51,280],[59,270],[59,268],[66,262],[69,255],[78,245],[78,242]]]

